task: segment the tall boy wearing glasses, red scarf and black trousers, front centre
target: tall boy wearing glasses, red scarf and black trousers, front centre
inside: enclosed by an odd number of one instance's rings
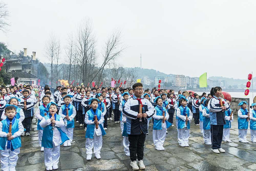
[[[143,98],[142,87],[142,83],[133,84],[133,97],[125,102],[122,111],[123,116],[126,117],[127,134],[130,142],[130,159],[133,170],[145,169],[142,159],[144,155],[144,142],[148,133],[148,120],[146,118],[152,117],[155,111],[152,104]],[[139,113],[140,104],[144,108],[141,113]],[[139,166],[137,165],[136,159],[138,159]]]

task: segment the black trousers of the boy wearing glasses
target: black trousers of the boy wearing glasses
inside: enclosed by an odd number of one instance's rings
[[[129,151],[131,161],[136,161],[136,159],[143,159],[145,139],[146,134],[128,135],[128,140],[130,142]]]

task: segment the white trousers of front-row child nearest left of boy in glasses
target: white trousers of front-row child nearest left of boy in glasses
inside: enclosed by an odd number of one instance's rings
[[[85,148],[86,154],[92,155],[92,148],[94,154],[100,154],[102,147],[102,135],[96,135],[94,132],[93,138],[86,138]]]

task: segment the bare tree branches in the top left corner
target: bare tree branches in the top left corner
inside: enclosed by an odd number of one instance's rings
[[[0,2],[0,30],[2,30],[4,33],[8,31],[7,27],[10,26],[10,24],[7,22],[8,17],[9,12],[7,10],[7,5]]]

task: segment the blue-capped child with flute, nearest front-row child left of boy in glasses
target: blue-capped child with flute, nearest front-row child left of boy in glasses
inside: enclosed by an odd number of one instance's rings
[[[88,105],[91,107],[85,114],[84,123],[87,124],[85,134],[87,160],[92,158],[92,149],[95,158],[100,159],[100,150],[102,147],[102,136],[106,134],[102,123],[104,122],[103,113],[98,109],[99,99],[90,98]]]

